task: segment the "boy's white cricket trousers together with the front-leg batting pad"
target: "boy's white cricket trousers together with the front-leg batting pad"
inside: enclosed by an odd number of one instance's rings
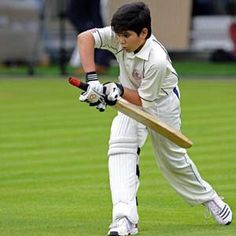
[[[180,129],[180,102],[174,92],[146,110],[176,130]],[[216,192],[201,178],[186,150],[158,133],[148,131],[160,171],[176,192],[191,205],[212,200]],[[127,217],[132,223],[138,223],[137,149],[144,145],[147,133],[145,126],[122,113],[113,120],[108,151],[113,221]]]

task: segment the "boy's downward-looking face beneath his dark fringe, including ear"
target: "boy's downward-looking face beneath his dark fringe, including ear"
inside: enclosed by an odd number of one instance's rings
[[[128,30],[120,34],[116,34],[119,43],[126,52],[134,52],[146,41],[147,29],[144,28],[142,32],[137,35],[136,32]]]

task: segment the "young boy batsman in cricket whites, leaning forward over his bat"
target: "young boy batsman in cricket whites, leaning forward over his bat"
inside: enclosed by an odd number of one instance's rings
[[[152,35],[150,10],[143,2],[121,6],[113,15],[110,27],[81,33],[78,46],[89,84],[87,91],[80,96],[81,101],[104,110],[106,104],[114,105],[121,96],[180,130],[178,75],[166,49]],[[99,82],[94,48],[107,49],[115,55],[120,70],[119,83]],[[113,203],[108,235],[138,233],[138,162],[147,133],[160,170],[176,192],[191,205],[207,207],[218,224],[230,224],[230,207],[202,179],[185,149],[118,113],[112,123],[108,150]]]

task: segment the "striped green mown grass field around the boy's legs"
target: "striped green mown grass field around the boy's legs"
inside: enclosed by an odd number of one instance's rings
[[[202,176],[236,212],[236,80],[182,79],[182,127]],[[0,235],[106,235],[107,142],[115,111],[78,101],[61,78],[0,79]],[[141,154],[140,236],[236,235],[170,188]]]

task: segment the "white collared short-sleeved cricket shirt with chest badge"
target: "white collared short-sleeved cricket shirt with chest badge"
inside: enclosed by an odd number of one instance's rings
[[[111,27],[94,29],[95,47],[111,51],[119,63],[119,81],[127,88],[138,90],[143,107],[172,92],[178,83],[166,49],[152,35],[137,53],[126,52]]]

